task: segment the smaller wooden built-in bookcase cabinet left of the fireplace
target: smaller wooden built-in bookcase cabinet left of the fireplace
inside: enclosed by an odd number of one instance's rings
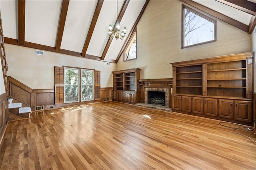
[[[117,97],[112,95],[113,101],[125,103],[139,103],[140,101],[140,69],[127,69],[112,71],[113,92],[118,93]]]

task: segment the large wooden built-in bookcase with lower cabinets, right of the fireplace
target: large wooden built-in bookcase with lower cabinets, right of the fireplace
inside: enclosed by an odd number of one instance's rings
[[[252,123],[254,52],[171,63],[172,110]]]

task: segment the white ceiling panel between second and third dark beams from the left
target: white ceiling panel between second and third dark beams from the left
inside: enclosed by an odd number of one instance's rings
[[[69,2],[61,49],[82,52],[96,5],[96,0]]]

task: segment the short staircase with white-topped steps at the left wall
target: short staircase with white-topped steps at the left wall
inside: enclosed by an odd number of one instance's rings
[[[30,107],[22,107],[22,103],[12,103],[13,99],[9,98],[9,118],[12,120],[30,118]]]

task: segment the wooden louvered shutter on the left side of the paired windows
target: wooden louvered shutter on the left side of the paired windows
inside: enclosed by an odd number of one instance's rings
[[[64,103],[64,67],[54,67],[55,104]]]

